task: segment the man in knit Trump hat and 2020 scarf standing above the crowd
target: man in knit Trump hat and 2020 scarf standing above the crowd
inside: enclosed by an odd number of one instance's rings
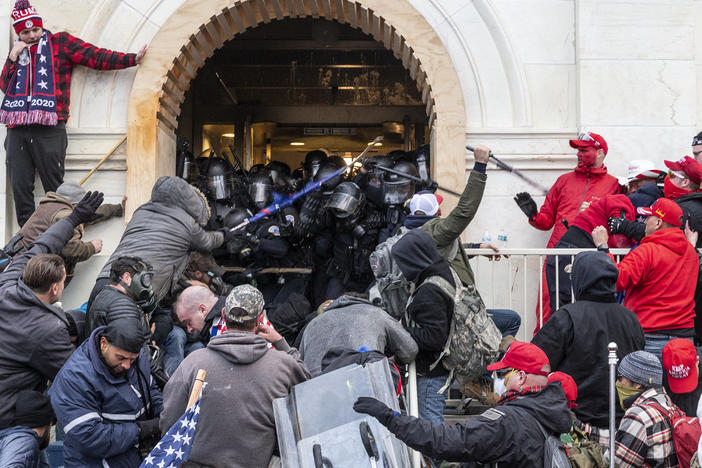
[[[45,192],[63,183],[66,120],[74,65],[119,70],[141,63],[138,54],[100,49],[66,32],[52,34],[29,0],[17,0],[12,26],[19,38],[0,74],[0,123],[7,125],[5,149],[20,226],[34,212],[34,171]]]

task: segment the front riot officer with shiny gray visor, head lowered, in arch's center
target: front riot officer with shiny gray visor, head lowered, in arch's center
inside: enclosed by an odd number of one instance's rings
[[[336,299],[344,291],[364,292],[373,281],[368,257],[378,244],[383,217],[353,182],[337,185],[326,207],[336,220],[326,299]]]

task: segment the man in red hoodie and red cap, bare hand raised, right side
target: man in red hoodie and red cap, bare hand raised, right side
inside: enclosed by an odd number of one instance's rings
[[[677,203],[659,198],[637,213],[646,216],[646,236],[617,265],[617,290],[626,291],[624,307],[641,322],[645,350],[660,359],[670,340],[695,336],[699,260],[681,230],[683,212]],[[604,226],[592,231],[598,250],[608,251],[608,237]]]

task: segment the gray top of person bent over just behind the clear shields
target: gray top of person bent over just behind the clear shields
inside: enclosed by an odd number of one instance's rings
[[[305,328],[300,354],[313,377],[322,373],[322,358],[331,348],[365,346],[395,356],[403,364],[417,355],[417,343],[400,322],[367,299],[341,296]]]

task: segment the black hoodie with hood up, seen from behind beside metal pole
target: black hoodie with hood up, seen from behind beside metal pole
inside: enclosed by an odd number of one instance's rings
[[[573,262],[575,302],[551,316],[532,343],[541,348],[551,370],[569,374],[578,385],[577,417],[599,427],[609,424],[607,345],[617,343],[621,360],[644,348],[639,320],[617,304],[618,271],[603,252],[583,252]],[[617,419],[624,411],[617,405]]]

